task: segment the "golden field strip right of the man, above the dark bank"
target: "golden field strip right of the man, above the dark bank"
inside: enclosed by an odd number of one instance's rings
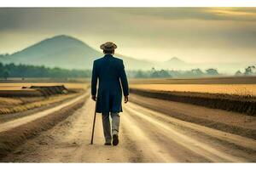
[[[256,77],[133,79],[130,82],[131,88],[143,90],[256,96]]]

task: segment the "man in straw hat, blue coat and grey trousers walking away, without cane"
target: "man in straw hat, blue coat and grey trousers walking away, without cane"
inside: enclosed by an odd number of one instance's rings
[[[127,103],[129,88],[123,60],[113,57],[117,46],[113,42],[106,42],[101,45],[101,48],[105,55],[93,63],[91,99],[96,101],[96,112],[102,113],[105,145],[111,145],[111,142],[117,145],[119,144],[119,113],[122,112],[122,89],[125,103]],[[99,80],[99,88],[96,99],[97,80]],[[112,126],[110,126],[109,115],[112,118]]]

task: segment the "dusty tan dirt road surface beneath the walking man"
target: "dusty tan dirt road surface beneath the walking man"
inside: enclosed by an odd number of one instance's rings
[[[118,146],[103,145],[101,115],[90,144],[95,103],[29,139],[8,162],[255,162],[256,140],[224,133],[128,103],[121,114]],[[191,109],[193,109],[191,105]]]

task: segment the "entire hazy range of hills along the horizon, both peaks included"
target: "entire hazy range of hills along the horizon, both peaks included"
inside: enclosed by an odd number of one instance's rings
[[[0,62],[26,65],[45,65],[48,67],[61,67],[66,69],[91,69],[94,59],[102,57],[102,52],[90,48],[86,43],[77,38],[66,35],[51,37],[33,44],[15,54],[0,55]],[[202,71],[207,68],[215,68],[220,72],[235,74],[236,71],[243,71],[252,63],[204,63],[192,64],[172,57],[165,62],[134,59],[122,54],[115,54],[116,57],[124,59],[126,70],[150,70],[156,69],[183,70],[188,71],[200,68]]]

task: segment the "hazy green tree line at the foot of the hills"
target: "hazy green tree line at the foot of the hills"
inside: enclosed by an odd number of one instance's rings
[[[127,77],[131,78],[172,78],[172,77],[218,77],[220,74],[216,69],[192,69],[190,71],[156,70],[149,71],[126,71]],[[256,67],[248,66],[244,72],[237,71],[235,76],[256,76]],[[15,65],[13,63],[3,65],[0,62],[0,77],[49,77],[49,78],[88,78],[91,70],[68,70],[58,67],[49,68],[44,65]]]

